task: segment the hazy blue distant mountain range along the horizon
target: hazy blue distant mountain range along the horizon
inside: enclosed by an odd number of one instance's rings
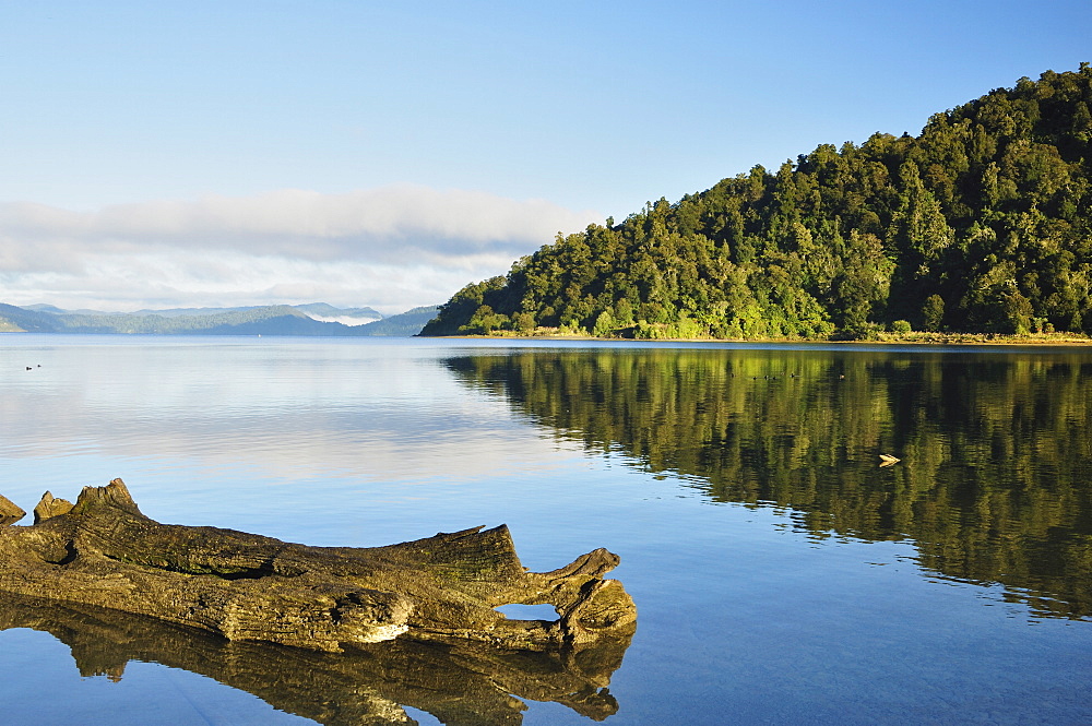
[[[49,305],[0,304],[0,332],[129,335],[416,335],[436,317],[426,306],[384,318],[371,308],[325,302],[246,308],[173,308],[138,312],[62,310]]]

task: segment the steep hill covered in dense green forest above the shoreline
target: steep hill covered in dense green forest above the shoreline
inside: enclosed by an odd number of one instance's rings
[[[467,285],[423,335],[1092,332],[1092,67],[821,145]]]

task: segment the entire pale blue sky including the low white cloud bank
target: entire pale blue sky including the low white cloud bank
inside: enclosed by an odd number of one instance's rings
[[[1083,2],[0,8],[0,301],[397,312],[1092,60]]]

